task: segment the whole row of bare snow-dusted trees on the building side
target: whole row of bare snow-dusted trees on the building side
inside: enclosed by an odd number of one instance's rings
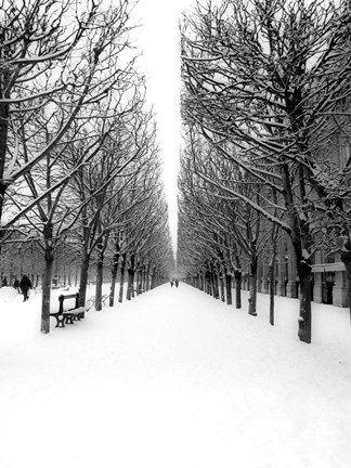
[[[255,314],[258,261],[274,261],[284,233],[306,342],[316,249],[340,255],[351,304],[349,3],[198,1],[182,25],[179,261],[192,274],[210,276],[218,263],[239,278],[244,252]]]

